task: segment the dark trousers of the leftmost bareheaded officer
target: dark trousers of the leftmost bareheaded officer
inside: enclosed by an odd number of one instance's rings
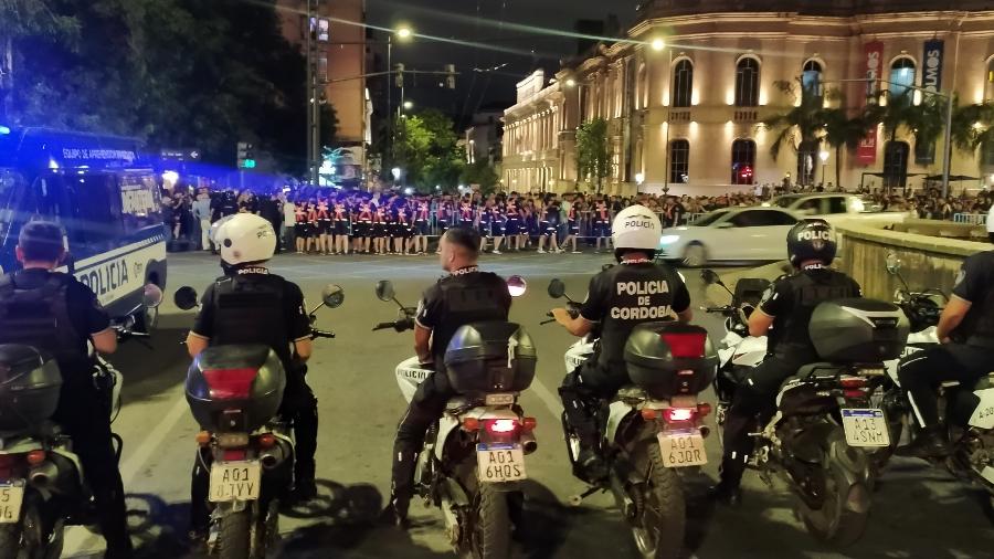
[[[110,442],[109,395],[94,388],[88,375],[85,381],[63,384],[62,394],[53,420],[71,437],[93,492],[97,521],[107,540],[105,557],[130,557],[124,484]]]

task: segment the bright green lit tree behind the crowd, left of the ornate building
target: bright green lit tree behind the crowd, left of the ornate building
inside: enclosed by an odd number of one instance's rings
[[[429,190],[435,186],[455,187],[466,164],[451,118],[429,109],[403,115],[394,129],[394,165],[405,171],[409,182]]]

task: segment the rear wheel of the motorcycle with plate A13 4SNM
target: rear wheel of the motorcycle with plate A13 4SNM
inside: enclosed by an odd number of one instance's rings
[[[832,449],[833,445],[847,446],[840,428],[829,435],[825,444],[828,457],[826,460],[824,502],[819,509],[808,508],[801,502],[799,511],[808,534],[819,541],[843,548],[855,544],[863,537],[869,517],[869,509],[857,511],[846,507],[849,492],[863,491],[867,494],[870,492],[861,483],[850,486],[846,482],[845,466],[835,456]]]

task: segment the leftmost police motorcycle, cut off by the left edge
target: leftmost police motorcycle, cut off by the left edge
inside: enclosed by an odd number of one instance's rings
[[[149,284],[144,305],[158,307],[162,292]],[[148,338],[133,315],[112,324],[118,340]],[[93,352],[94,386],[112,423],[120,411],[120,372]],[[56,559],[67,526],[95,526],[96,504],[72,439],[52,416],[62,372],[31,346],[0,345],[0,559]],[[112,434],[117,460],[121,439]]]

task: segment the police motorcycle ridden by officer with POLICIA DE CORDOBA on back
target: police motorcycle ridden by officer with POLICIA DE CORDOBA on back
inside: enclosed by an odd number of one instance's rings
[[[549,296],[565,297],[570,314],[579,314],[580,304],[567,296],[560,280],[549,284]],[[564,357],[567,373],[594,355],[596,337],[591,333],[570,346]],[[699,394],[715,378],[718,359],[706,329],[675,321],[637,326],[628,336],[624,358],[633,384],[622,387],[595,413],[609,476],[570,503],[579,506],[590,495],[610,491],[641,557],[680,557],[687,523],[681,478],[699,473],[708,461],[704,440],[710,429],[704,419],[711,405],[700,401]],[[565,413],[562,428],[573,474],[590,483],[581,475],[580,439]]]

